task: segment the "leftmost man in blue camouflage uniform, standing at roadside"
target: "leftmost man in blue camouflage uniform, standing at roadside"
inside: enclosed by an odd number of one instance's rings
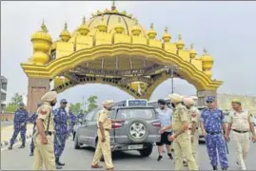
[[[12,134],[12,137],[10,139],[10,146],[8,149],[12,149],[13,143],[16,141],[16,138],[20,132],[22,144],[19,146],[19,148],[25,148],[26,143],[26,132],[27,132],[27,121],[29,113],[24,108],[25,104],[22,102],[19,103],[19,108],[15,111],[14,114],[14,132]]]

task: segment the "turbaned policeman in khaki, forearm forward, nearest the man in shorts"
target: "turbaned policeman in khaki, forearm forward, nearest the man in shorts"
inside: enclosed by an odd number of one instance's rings
[[[169,137],[169,141],[173,141],[174,143],[175,170],[184,170],[183,153],[187,159],[188,169],[198,170],[198,165],[192,155],[191,143],[187,133],[187,108],[181,104],[183,98],[178,94],[171,94],[168,97],[171,103],[175,105],[175,109],[172,113],[172,124],[161,129],[160,133],[169,128],[172,128],[174,132],[174,134]]]

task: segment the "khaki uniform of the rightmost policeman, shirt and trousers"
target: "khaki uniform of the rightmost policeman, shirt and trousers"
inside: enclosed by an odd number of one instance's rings
[[[231,111],[227,123],[232,124],[233,138],[236,141],[236,153],[243,170],[246,170],[246,157],[249,150],[249,123],[254,123],[253,115],[248,111]]]

